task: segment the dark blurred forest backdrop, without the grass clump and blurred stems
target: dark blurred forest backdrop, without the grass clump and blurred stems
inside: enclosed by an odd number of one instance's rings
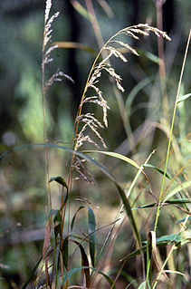
[[[89,1],[79,0],[87,8]],[[99,52],[99,45],[112,34],[133,24],[148,23],[157,26],[157,3],[152,0],[93,0],[99,30],[94,30],[91,19],[75,0],[53,0],[52,14],[59,11],[53,22],[53,42],[60,46],[53,52],[53,63],[48,64],[47,78],[59,67],[69,74],[72,82],[55,82],[47,95],[48,130],[51,143],[71,147],[72,126],[81,94],[91,64]],[[162,101],[158,71],[158,39],[154,35],[140,37],[139,41],[129,39],[137,48],[140,57],[126,55],[129,62],[113,60],[116,72],[122,77],[125,92],[114,93],[107,75],[101,81],[101,90],[110,106],[109,129],[104,130],[104,140],[109,150],[120,152],[143,163],[148,154],[157,149],[152,163],[165,158],[167,152],[167,131],[170,124],[177,83],[190,29],[191,2],[189,0],[163,1],[162,29],[171,37],[164,41],[167,107]],[[42,43],[43,43],[43,0],[1,0],[0,2],[0,152],[15,146],[43,142],[42,109]],[[95,28],[95,27],[94,27]],[[97,26],[98,28],[98,26]],[[101,33],[102,39],[99,35]],[[74,48],[73,43],[80,48]],[[77,46],[77,45],[76,45]],[[181,94],[190,92],[190,54]],[[134,91],[133,91],[134,89]],[[122,99],[120,99],[122,97]],[[121,101],[129,115],[129,130],[121,118]],[[175,134],[177,141],[190,132],[191,102],[187,100],[177,111]],[[100,113],[97,111],[97,113]],[[101,118],[101,114],[100,114]],[[162,128],[162,129],[161,129]],[[131,137],[133,136],[133,139]],[[130,140],[132,140],[130,142]],[[190,159],[190,143],[177,151],[176,158]],[[180,155],[179,155],[179,154]],[[97,158],[97,156],[94,156]],[[65,171],[67,154],[50,149],[50,176],[60,176]],[[172,157],[169,169],[177,169]],[[115,159],[100,158],[121,183],[130,182],[136,170]],[[176,168],[177,166],[177,168]],[[99,226],[113,221],[119,207],[119,197],[96,169],[91,173],[97,186],[78,182],[74,184],[72,197],[86,198],[91,202],[98,217]],[[150,171],[148,172],[148,174]],[[67,178],[65,176],[64,178]],[[47,212],[47,196],[44,178],[42,148],[17,149],[1,159],[0,167],[0,287],[21,288],[33,266],[42,253]],[[151,185],[158,194],[161,178],[153,178]],[[60,207],[60,188],[52,186],[53,208]],[[159,188],[158,188],[159,186]],[[138,188],[139,190],[141,189]],[[148,196],[149,199],[150,196]],[[75,210],[79,200],[73,200]],[[80,203],[81,205],[81,203]],[[100,208],[98,208],[100,207]],[[80,215],[79,215],[80,216]],[[181,217],[181,215],[179,216]],[[86,216],[81,213],[79,228],[85,231]],[[160,224],[161,232],[170,234],[167,224]],[[100,243],[106,232],[99,233]],[[127,224],[124,230],[129,230]],[[163,230],[163,231],[162,231]],[[129,230],[129,237],[131,231]],[[119,258],[127,254],[127,242],[119,236],[114,266]],[[133,269],[132,269],[133,270]],[[130,269],[129,269],[130,274]],[[133,273],[132,273],[133,274]]]

